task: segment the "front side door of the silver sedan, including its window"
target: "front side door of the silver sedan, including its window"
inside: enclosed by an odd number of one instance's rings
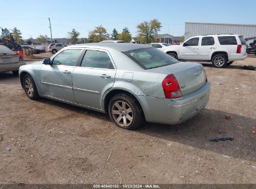
[[[72,73],[77,66],[82,49],[68,49],[57,54],[52,65],[40,70],[42,93],[54,98],[74,102]]]

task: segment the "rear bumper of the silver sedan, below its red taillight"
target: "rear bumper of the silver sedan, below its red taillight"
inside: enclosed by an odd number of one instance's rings
[[[179,124],[196,116],[209,101],[211,84],[179,99],[138,96],[146,121],[161,124]]]

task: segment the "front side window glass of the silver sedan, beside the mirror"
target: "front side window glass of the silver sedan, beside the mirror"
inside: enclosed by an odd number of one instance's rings
[[[54,57],[52,65],[76,66],[81,53],[82,49],[64,50]]]

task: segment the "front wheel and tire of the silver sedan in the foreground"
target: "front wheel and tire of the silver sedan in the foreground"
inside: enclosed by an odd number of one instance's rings
[[[23,78],[23,86],[27,97],[33,100],[39,99],[39,94],[37,91],[36,83],[33,78],[26,74]]]

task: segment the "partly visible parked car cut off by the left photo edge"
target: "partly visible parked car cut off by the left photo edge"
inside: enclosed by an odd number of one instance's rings
[[[25,65],[20,60],[19,53],[12,52],[12,50],[4,45],[0,45],[0,72],[12,71],[14,75],[19,74],[19,67]]]

